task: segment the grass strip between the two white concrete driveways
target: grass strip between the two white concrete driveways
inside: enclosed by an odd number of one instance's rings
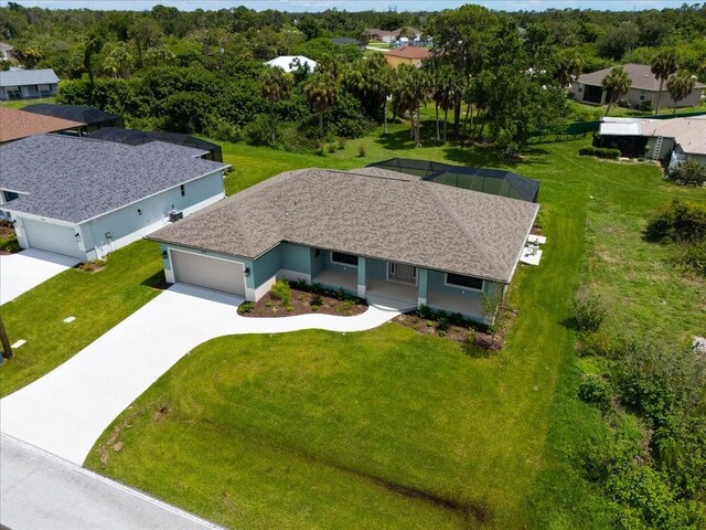
[[[109,255],[97,273],[68,269],[1,307],[10,341],[26,343],[0,365],[0,396],[50,372],[159,293],[156,243],[139,241]],[[74,316],[76,320],[64,324]]]

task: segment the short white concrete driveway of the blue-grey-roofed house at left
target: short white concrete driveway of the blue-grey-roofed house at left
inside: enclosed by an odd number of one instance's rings
[[[75,257],[36,248],[0,255],[0,305],[13,300],[77,263]]]

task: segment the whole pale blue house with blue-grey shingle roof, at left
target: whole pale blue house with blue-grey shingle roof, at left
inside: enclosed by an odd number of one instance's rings
[[[223,199],[227,166],[201,155],[162,141],[32,136],[0,147],[0,209],[22,248],[101,258]]]

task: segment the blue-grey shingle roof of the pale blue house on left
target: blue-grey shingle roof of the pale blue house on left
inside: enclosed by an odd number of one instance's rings
[[[0,146],[0,188],[29,193],[3,208],[79,223],[227,167],[197,149],[40,135]]]

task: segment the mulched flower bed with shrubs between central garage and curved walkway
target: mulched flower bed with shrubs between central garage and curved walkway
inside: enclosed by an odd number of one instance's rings
[[[320,297],[314,299],[314,297]],[[308,315],[308,314],[323,314],[323,315],[336,315],[339,317],[353,317],[361,315],[367,309],[365,300],[354,297],[346,297],[347,299],[341,300],[333,294],[319,294],[309,293],[295,287],[291,287],[291,301],[289,307],[286,307],[281,300],[275,299],[271,293],[266,294],[256,303],[245,303],[238,308],[238,312],[244,317],[292,317],[295,315]],[[318,305],[313,301],[320,301]],[[355,301],[353,301],[355,300]],[[249,305],[246,305],[249,304]],[[245,306],[245,307],[244,307]],[[245,311],[252,307],[252,310]]]

